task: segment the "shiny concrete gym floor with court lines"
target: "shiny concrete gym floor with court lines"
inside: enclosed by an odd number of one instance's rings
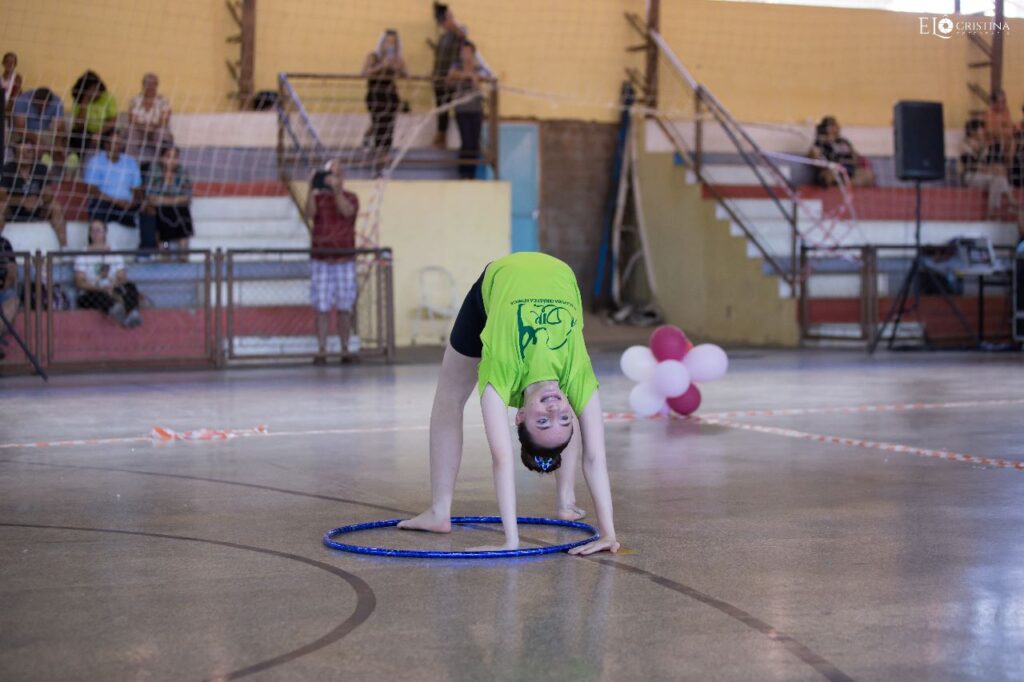
[[[0,679],[1021,680],[1022,370],[733,352],[701,420],[608,421],[627,551],[505,561],[321,545],[428,504],[435,365],[4,379]],[[552,513],[552,479],[517,485]],[[455,512],[495,511],[471,400]]]

